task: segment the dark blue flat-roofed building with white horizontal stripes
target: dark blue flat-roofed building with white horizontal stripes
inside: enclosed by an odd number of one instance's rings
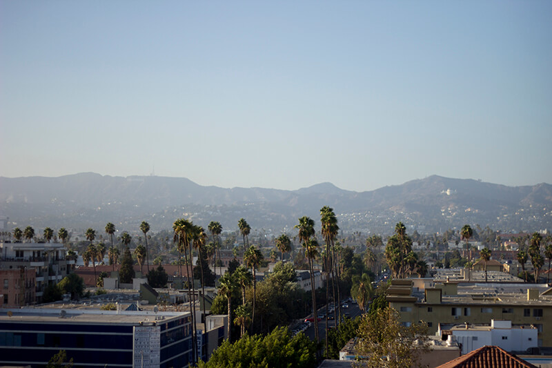
[[[0,365],[44,367],[60,350],[74,367],[186,367],[190,313],[0,310]]]

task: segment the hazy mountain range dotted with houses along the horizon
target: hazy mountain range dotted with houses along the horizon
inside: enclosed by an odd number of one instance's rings
[[[0,214],[37,228],[84,229],[108,221],[131,227],[148,220],[158,229],[169,229],[177,217],[190,217],[204,225],[210,220],[226,222],[228,229],[245,217],[254,229],[290,229],[302,215],[318,220],[325,205],[335,209],[342,229],[351,231],[392,231],[396,221],[426,232],[464,224],[532,231],[552,224],[552,186],[544,183],[513,187],[433,175],[355,192],[331,183],[282,191],[96,173],[0,177]]]

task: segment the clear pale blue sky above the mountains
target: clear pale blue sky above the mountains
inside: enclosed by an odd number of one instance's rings
[[[0,0],[0,176],[552,183],[551,1]]]

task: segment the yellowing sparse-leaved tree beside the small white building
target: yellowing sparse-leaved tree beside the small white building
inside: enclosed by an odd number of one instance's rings
[[[429,351],[427,331],[423,323],[411,327],[401,325],[399,313],[390,307],[364,314],[356,346],[360,363],[370,368],[417,366],[421,354]]]

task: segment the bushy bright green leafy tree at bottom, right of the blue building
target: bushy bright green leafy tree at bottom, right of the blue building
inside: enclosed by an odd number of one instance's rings
[[[291,336],[286,327],[277,327],[266,336],[244,335],[234,343],[226,340],[199,368],[219,367],[316,367],[316,345],[304,333]]]

